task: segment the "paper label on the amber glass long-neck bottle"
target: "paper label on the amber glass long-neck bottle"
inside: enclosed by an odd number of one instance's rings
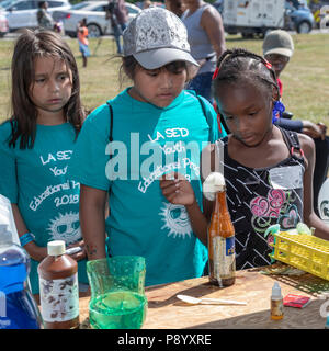
[[[235,237],[213,238],[214,275],[219,278],[231,276],[235,270]]]

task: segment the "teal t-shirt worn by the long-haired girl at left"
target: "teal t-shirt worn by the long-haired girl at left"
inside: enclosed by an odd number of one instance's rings
[[[67,245],[81,240],[79,222],[80,184],[68,177],[68,161],[72,155],[75,129],[69,123],[37,125],[34,147],[14,148],[8,139],[9,122],[0,125],[0,193],[18,204],[36,245],[65,240]],[[32,293],[38,293],[38,262],[31,260]],[[80,282],[88,282],[86,260],[78,262]]]

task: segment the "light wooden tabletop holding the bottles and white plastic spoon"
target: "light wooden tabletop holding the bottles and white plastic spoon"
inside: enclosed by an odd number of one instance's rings
[[[310,304],[303,309],[284,307],[284,318],[271,320],[270,296],[275,281],[279,281],[283,296],[288,293],[306,295],[311,297]],[[207,276],[150,286],[146,288],[148,310],[143,329],[324,329],[326,319],[320,315],[320,306],[326,299],[316,291],[329,291],[328,284],[308,273],[288,278],[264,275],[260,269],[253,269],[238,271],[236,283],[225,288],[211,285]],[[175,297],[178,294],[246,301],[248,304],[188,305]],[[89,299],[89,296],[80,298],[82,326],[88,325]]]

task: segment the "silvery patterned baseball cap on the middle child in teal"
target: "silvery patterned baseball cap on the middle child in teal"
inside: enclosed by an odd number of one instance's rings
[[[146,69],[172,61],[198,66],[191,56],[188,31],[172,12],[151,7],[143,10],[123,33],[124,56],[133,55]]]

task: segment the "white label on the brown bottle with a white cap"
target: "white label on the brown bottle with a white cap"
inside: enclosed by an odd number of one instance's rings
[[[42,317],[45,321],[66,321],[78,317],[78,273],[66,279],[39,278],[39,296]]]

